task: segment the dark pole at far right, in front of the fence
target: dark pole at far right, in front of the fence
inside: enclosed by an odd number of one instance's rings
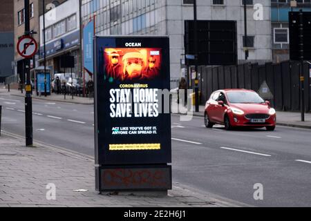
[[[301,121],[305,121],[305,86],[304,86],[304,75],[303,75],[303,10],[299,10],[299,52],[300,52],[300,101],[301,101]]]

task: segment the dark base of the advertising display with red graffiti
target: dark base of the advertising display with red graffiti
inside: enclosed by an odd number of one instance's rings
[[[95,166],[95,189],[100,193],[167,195],[171,188],[171,166],[167,164]]]

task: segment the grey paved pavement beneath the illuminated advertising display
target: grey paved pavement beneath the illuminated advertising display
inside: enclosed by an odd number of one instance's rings
[[[216,200],[182,184],[168,195],[95,191],[91,157],[35,143],[25,147],[21,137],[0,137],[0,207],[223,207],[245,206]],[[49,185],[49,186],[48,186]],[[50,191],[55,186],[55,200]],[[50,196],[49,197],[47,197]]]

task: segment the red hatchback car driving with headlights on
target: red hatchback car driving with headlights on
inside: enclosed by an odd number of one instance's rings
[[[217,90],[205,104],[205,126],[224,124],[226,130],[234,127],[267,128],[274,131],[276,111],[253,90]]]

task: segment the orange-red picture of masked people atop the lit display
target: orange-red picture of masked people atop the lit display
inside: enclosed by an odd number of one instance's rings
[[[106,48],[104,52],[109,81],[138,81],[160,76],[159,48]]]

